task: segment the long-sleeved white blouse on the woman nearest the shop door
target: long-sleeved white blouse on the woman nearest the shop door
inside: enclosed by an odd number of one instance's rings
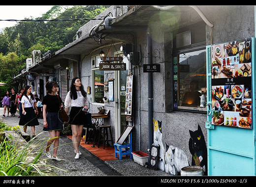
[[[76,91],[77,99],[73,100],[70,97],[70,91],[66,94],[66,99],[64,102],[65,108],[66,107],[84,107],[87,106],[89,108],[89,102],[87,96],[84,97],[81,91]]]

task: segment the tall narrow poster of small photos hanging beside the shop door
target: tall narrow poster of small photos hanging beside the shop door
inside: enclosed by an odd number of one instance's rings
[[[126,115],[131,115],[132,80],[133,80],[133,75],[127,76],[127,78],[126,78],[126,108],[125,108]]]

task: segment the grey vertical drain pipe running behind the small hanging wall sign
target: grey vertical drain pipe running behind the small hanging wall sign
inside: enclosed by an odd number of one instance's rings
[[[152,64],[152,39],[151,30],[147,30],[147,58],[148,63]],[[153,144],[153,79],[152,73],[148,73],[148,135],[149,135],[149,149]]]

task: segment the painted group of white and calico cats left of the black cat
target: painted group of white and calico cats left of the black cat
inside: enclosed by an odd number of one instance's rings
[[[171,175],[179,175],[181,168],[189,166],[187,156],[183,150],[167,145],[166,150],[162,143],[162,122],[154,120],[154,145],[159,146],[158,168]]]

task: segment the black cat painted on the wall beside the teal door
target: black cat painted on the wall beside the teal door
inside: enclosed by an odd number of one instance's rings
[[[190,132],[189,149],[192,154],[192,165],[201,166],[204,175],[207,174],[207,147],[203,132],[198,125],[197,130]]]

